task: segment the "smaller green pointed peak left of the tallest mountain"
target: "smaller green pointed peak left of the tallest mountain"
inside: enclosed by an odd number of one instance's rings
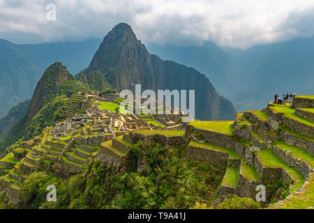
[[[77,91],[89,91],[89,86],[77,82],[62,63],[52,64],[38,82],[27,114],[20,118],[1,142],[0,151],[18,139],[31,139],[40,134],[43,128],[64,118],[61,107],[66,102],[66,97]]]

